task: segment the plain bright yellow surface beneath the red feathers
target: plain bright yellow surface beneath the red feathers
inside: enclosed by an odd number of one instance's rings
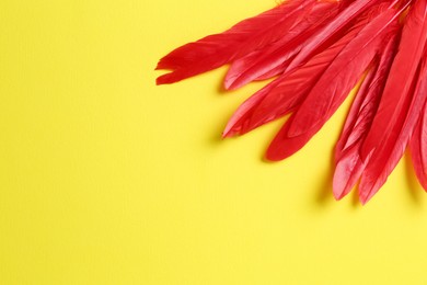
[[[426,284],[407,159],[367,206],[332,197],[349,101],[267,163],[280,122],[220,139],[262,84],[154,86],[166,52],[274,4],[0,1],[0,284]]]

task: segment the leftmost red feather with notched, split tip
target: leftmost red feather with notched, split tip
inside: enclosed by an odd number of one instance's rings
[[[173,83],[218,68],[232,59],[278,41],[292,18],[303,13],[314,0],[290,0],[254,18],[246,19],[230,30],[209,35],[181,46],[160,59],[157,69],[171,69],[160,76],[158,84]]]

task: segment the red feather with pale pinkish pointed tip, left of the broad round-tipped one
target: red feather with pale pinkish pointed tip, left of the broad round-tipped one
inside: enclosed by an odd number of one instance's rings
[[[336,56],[368,23],[368,18],[361,19],[330,48],[293,72],[282,75],[247,99],[230,118],[223,136],[243,135],[292,112]]]

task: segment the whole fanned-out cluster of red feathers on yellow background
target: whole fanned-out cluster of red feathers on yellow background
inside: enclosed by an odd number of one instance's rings
[[[275,78],[232,115],[223,137],[291,113],[266,158],[302,148],[357,86],[335,148],[333,193],[367,203],[408,147],[427,190],[427,0],[289,0],[176,48],[158,84],[230,65],[228,90]],[[359,84],[358,84],[359,82]]]

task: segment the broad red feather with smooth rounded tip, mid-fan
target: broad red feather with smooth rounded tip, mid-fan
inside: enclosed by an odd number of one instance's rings
[[[371,22],[342,50],[272,141],[268,159],[289,157],[319,132],[355,87],[388,33],[396,29],[397,14],[394,9],[370,14]]]

